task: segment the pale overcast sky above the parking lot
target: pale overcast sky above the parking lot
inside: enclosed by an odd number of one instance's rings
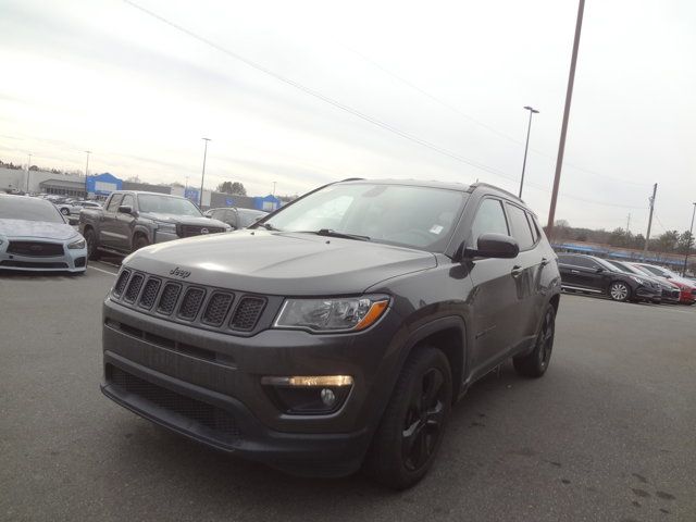
[[[475,181],[546,222],[576,0],[0,0],[0,159],[302,194]],[[696,3],[587,0],[557,219],[687,229]]]

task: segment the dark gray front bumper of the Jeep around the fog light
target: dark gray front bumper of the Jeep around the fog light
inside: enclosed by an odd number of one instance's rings
[[[189,438],[293,474],[357,471],[398,372],[385,356],[399,324],[389,312],[380,328],[355,335],[265,330],[240,337],[109,299],[103,311],[107,397]],[[281,411],[260,384],[268,375],[351,375],[355,384],[338,411],[297,415]]]

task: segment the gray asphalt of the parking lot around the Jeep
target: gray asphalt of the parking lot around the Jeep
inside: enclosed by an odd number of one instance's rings
[[[115,271],[0,274],[1,520],[696,520],[696,307],[563,296],[546,376],[480,381],[430,475],[394,493],[237,460],[102,397]]]

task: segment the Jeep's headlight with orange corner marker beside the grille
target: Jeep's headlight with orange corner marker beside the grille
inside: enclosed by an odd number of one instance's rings
[[[358,332],[374,324],[388,304],[386,296],[287,299],[274,326],[312,332]]]

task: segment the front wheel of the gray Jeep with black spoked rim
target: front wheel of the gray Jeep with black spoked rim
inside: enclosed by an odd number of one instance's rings
[[[411,353],[375,432],[364,470],[376,482],[406,489],[433,464],[452,402],[449,361],[424,346]]]

